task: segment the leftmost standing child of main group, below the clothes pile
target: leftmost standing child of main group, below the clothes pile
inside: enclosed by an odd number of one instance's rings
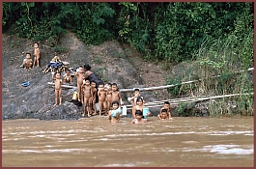
[[[55,86],[54,86],[55,87],[55,104],[54,105],[58,104],[58,99],[59,99],[60,104],[62,104],[62,88],[61,88],[61,85],[63,84],[63,82],[62,82],[62,79],[61,79],[61,73],[57,72],[55,77],[54,77],[54,74],[52,74],[51,78],[55,83]]]

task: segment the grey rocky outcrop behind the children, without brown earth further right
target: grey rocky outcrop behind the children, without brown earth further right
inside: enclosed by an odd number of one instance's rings
[[[53,106],[54,89],[47,85],[51,74],[42,72],[55,55],[70,67],[89,64],[104,82],[115,82],[119,88],[144,87],[139,72],[128,61],[127,53],[118,42],[104,42],[99,46],[87,46],[73,34],[63,37],[59,47],[65,53],[55,53],[53,47],[40,42],[41,67],[25,70],[19,66],[25,58],[25,52],[33,53],[33,42],[3,35],[2,46],[2,119],[37,118],[41,120],[75,120],[81,117],[81,107],[69,102],[73,89],[63,90],[63,104]],[[30,85],[23,87],[24,81]],[[74,79],[73,85],[76,81]],[[150,93],[142,94],[147,101],[155,101]],[[125,103],[131,93],[122,94]],[[153,115],[158,108],[152,108]]]

